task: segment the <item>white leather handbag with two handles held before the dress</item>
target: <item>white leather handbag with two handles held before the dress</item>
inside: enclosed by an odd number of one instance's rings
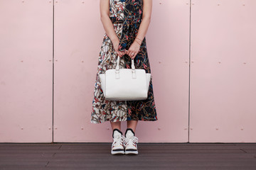
[[[131,59],[132,60],[132,59]],[[120,57],[117,58],[115,69],[107,69],[100,74],[103,94],[109,101],[137,101],[148,97],[151,74],[144,69],[119,69]]]

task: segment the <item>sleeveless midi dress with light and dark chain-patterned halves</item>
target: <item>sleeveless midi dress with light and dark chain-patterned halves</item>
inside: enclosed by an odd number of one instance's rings
[[[129,50],[130,45],[137,36],[140,23],[142,21],[143,0],[110,0],[110,20],[120,42],[120,51]],[[120,57],[119,68],[130,68],[131,58],[129,55]],[[152,79],[149,84],[148,98],[141,101],[107,101],[101,89],[99,74],[105,73],[107,69],[114,69],[117,64],[117,52],[110,38],[103,36],[98,60],[95,91],[92,100],[91,123],[103,123],[105,121],[117,122],[126,120],[158,120],[156,116],[156,106]],[[145,69],[146,73],[151,73],[149,58],[146,51],[146,38],[137,56],[134,58],[136,69]]]

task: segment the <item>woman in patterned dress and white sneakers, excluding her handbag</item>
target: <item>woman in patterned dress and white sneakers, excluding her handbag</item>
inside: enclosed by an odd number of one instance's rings
[[[105,35],[100,50],[94,98],[92,100],[91,123],[110,121],[112,126],[112,154],[138,154],[138,138],[135,130],[138,120],[154,121],[156,106],[154,102],[152,79],[148,98],[141,101],[107,101],[100,86],[99,74],[114,69],[117,57],[119,68],[130,68],[134,59],[136,69],[151,73],[146,51],[146,31],[151,18],[152,0],[100,0],[100,14]],[[127,121],[124,136],[121,121]]]

